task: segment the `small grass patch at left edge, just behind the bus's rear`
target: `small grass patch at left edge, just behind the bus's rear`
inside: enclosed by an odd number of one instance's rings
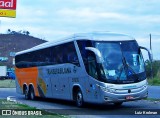
[[[0,88],[15,88],[15,80],[6,79],[6,80],[0,80]]]

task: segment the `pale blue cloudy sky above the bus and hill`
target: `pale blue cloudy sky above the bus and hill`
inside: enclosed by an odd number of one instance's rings
[[[16,18],[0,17],[0,33],[27,30],[52,41],[74,33],[128,34],[160,59],[160,0],[17,0]]]

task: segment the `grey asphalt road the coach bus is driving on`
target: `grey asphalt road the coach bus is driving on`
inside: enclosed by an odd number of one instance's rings
[[[160,99],[160,87],[149,86],[149,98]],[[135,115],[139,111],[152,111],[160,113],[160,101],[139,100],[126,102],[121,107],[115,107],[112,104],[97,105],[87,104],[84,108],[77,108],[73,102],[55,99],[37,99],[35,101],[25,100],[23,95],[16,93],[14,88],[0,88],[0,98],[6,99],[8,96],[15,96],[16,100],[24,104],[47,109],[60,114],[69,114],[71,117],[100,117],[100,118],[155,118],[160,115]],[[130,114],[130,115],[128,115]]]

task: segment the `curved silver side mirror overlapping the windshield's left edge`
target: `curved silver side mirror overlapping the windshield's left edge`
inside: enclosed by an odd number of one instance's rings
[[[103,58],[102,58],[101,52],[97,48],[85,47],[85,49],[89,50],[89,51],[92,51],[96,55],[97,63],[102,63],[103,62]]]

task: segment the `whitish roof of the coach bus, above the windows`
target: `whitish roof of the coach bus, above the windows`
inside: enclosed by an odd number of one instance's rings
[[[93,40],[93,41],[129,41],[129,40],[135,40],[133,37],[125,34],[117,34],[117,33],[111,33],[111,32],[95,32],[95,33],[79,33],[74,34],[70,37],[49,41],[40,45],[37,45],[33,48],[23,50],[20,52],[17,52],[16,55],[20,55],[27,52],[32,52],[35,50],[56,46],[59,44],[75,41],[75,40]]]

